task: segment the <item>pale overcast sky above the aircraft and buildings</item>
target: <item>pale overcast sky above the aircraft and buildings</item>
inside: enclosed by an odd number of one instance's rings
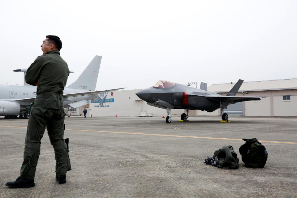
[[[297,78],[297,1],[3,1],[1,84],[23,84],[57,35],[71,84],[102,56],[97,90],[157,80],[218,83]],[[87,77],[86,77],[87,78]]]

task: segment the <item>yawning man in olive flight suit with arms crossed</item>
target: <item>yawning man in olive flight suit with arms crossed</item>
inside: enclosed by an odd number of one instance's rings
[[[40,155],[41,138],[45,127],[56,159],[56,180],[66,183],[66,173],[71,170],[69,150],[64,140],[63,90],[69,75],[67,63],[60,56],[62,41],[59,37],[46,36],[38,56],[28,68],[26,83],[37,86],[37,96],[28,120],[25,137],[24,161],[20,176],[7,182],[11,188],[33,187],[37,161]]]

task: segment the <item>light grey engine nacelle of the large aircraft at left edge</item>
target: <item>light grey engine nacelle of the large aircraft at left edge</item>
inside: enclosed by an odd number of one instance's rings
[[[24,110],[26,110],[26,107],[17,102],[0,101],[0,115],[18,115],[19,112]]]

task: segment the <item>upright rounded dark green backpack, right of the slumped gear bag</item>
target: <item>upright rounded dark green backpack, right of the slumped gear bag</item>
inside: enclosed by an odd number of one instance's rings
[[[268,153],[256,138],[242,139],[245,142],[240,148],[239,153],[245,166],[249,168],[264,168]]]

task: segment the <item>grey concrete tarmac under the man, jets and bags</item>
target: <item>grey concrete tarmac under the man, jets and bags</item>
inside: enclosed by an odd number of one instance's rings
[[[19,176],[26,119],[0,118],[0,197],[297,197],[297,118],[66,117],[72,170],[55,181],[54,149],[41,140],[35,187],[5,186]],[[256,137],[268,151],[263,169],[244,166],[242,138]],[[204,165],[232,145],[239,169]]]

